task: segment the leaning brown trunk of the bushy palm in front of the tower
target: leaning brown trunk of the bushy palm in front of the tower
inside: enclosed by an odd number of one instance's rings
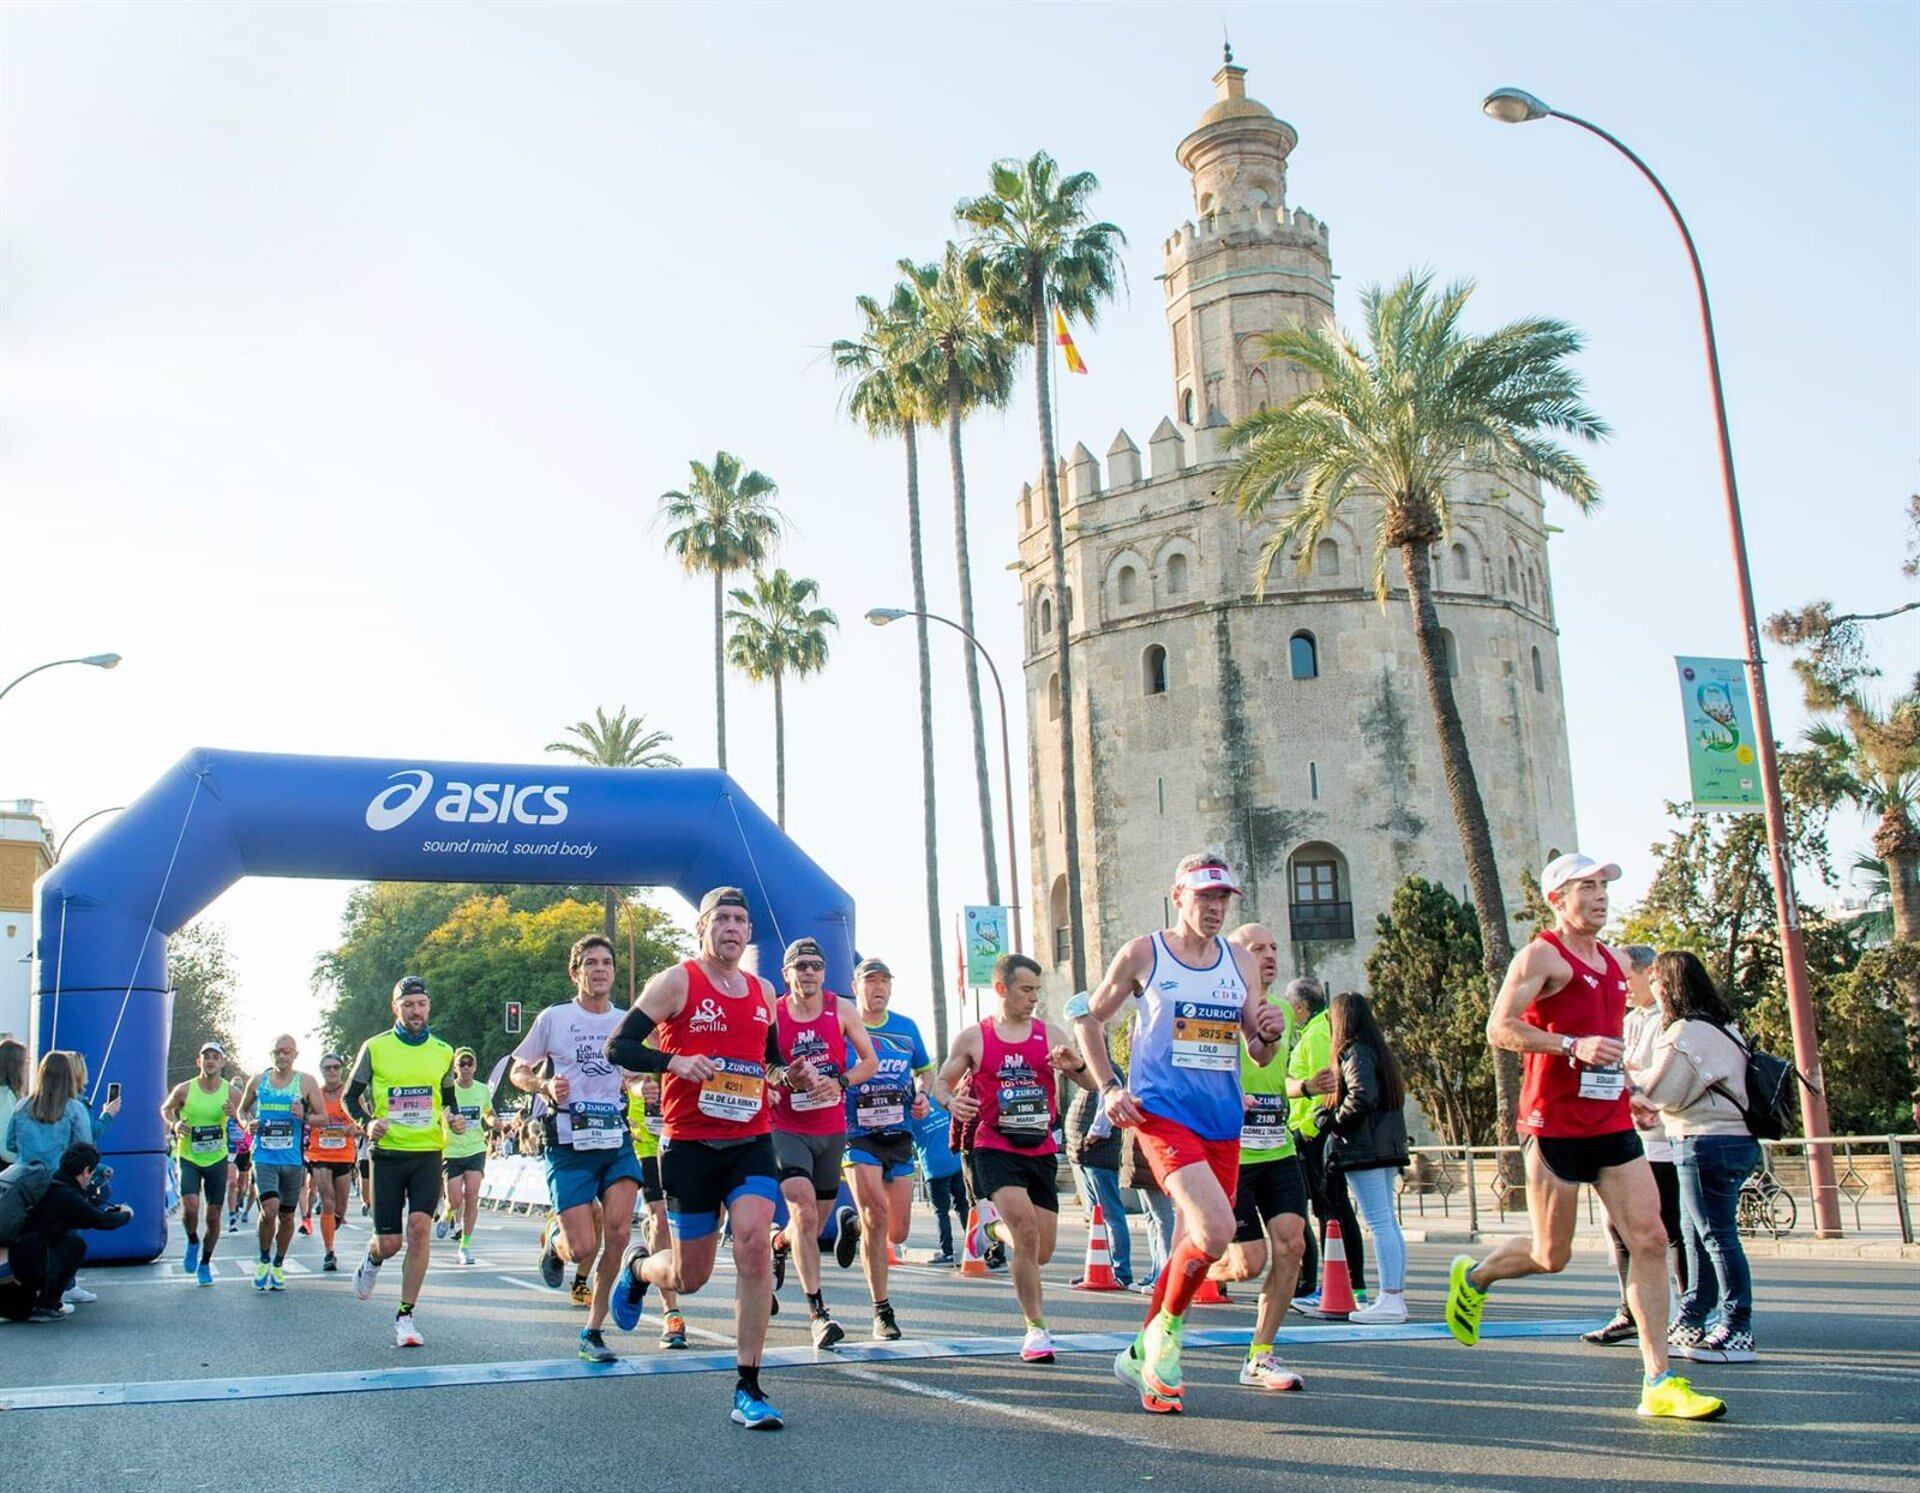
[[[1434,610],[1427,541],[1402,543],[1400,558],[1407,572],[1407,603],[1413,606],[1413,643],[1421,654],[1427,699],[1440,733],[1440,771],[1446,775],[1453,823],[1467,858],[1473,913],[1480,919],[1486,983],[1498,998],[1507,979],[1507,965],[1513,963],[1513,940],[1507,935],[1507,900],[1500,892],[1500,865],[1494,860],[1494,831],[1486,821],[1486,802],[1480,798],[1480,781],[1467,752],[1467,731],[1459,723],[1459,704],[1453,700],[1453,677],[1448,674],[1446,645],[1440,641],[1440,612]],[[1494,1050],[1494,1100],[1500,1107],[1496,1136],[1501,1146],[1513,1146],[1517,1142],[1513,1119],[1521,1107],[1521,1054]]]

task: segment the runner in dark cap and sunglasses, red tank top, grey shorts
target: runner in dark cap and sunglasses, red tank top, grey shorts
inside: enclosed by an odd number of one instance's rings
[[[787,994],[776,1011],[780,1061],[804,1063],[812,1088],[787,1078],[774,1086],[774,1161],[787,1199],[787,1228],[774,1236],[774,1293],[791,1257],[806,1292],[814,1347],[833,1347],[847,1330],[833,1320],[820,1290],[820,1215],[833,1205],[847,1153],[847,1088],[879,1067],[860,1007],[828,990],[828,958],[812,938],[795,938],[781,958]],[[849,1061],[851,1057],[851,1061]],[[783,1075],[785,1077],[785,1075]]]

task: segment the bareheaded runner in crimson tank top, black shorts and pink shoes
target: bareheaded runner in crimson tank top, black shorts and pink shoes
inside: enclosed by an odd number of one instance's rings
[[[1094,1080],[1066,1032],[1033,1013],[1041,998],[1041,967],[1033,960],[1002,954],[993,967],[993,992],[1000,998],[998,1017],[954,1038],[933,1092],[960,1121],[979,1121],[968,1155],[970,1180],[973,1196],[993,1203],[1008,1236],[1014,1295],[1027,1320],[1020,1357],[1052,1363],[1041,1267],[1054,1257],[1060,1230],[1054,1073],[1066,1073],[1081,1088],[1094,1088]],[[972,1082],[954,1092],[970,1073]]]

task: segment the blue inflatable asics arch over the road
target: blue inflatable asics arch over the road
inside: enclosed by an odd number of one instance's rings
[[[852,979],[852,900],[726,773],[188,752],[40,881],[36,1046],[86,1054],[92,1094],[121,1084],[102,1151],[136,1217],[94,1236],[94,1259],[165,1249],[167,938],[248,875],[672,887],[689,902],[733,885],[764,973],[812,935],[829,986]]]

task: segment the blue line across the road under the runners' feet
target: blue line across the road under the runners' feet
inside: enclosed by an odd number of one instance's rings
[[[1572,1338],[1599,1326],[1599,1318],[1553,1322],[1490,1322],[1480,1338]],[[1246,1347],[1246,1328],[1187,1334],[1187,1347]],[[1407,1343],[1446,1338],[1444,1322],[1356,1326],[1329,1322],[1319,1328],[1284,1328],[1277,1343]],[[1066,1332],[1054,1338],[1056,1353],[1117,1353],[1131,1332]],[[764,1368],[831,1368],[847,1363],[904,1363],[912,1359],[993,1359],[1020,1353],[1020,1338],[937,1338],[900,1343],[849,1343],[833,1353],[781,1347],[766,1355]],[[670,1353],[589,1364],[578,1359],[522,1359],[518,1363],[449,1363],[426,1368],[332,1370],[323,1374],[257,1374],[244,1380],[148,1380],[142,1384],[48,1384],[0,1389],[0,1410],[75,1410],[113,1405],[204,1405],[296,1395],[365,1395],[386,1389],[461,1389],[484,1384],[536,1384],[551,1380],[618,1380],[653,1374],[732,1374],[735,1357],[726,1353]]]

